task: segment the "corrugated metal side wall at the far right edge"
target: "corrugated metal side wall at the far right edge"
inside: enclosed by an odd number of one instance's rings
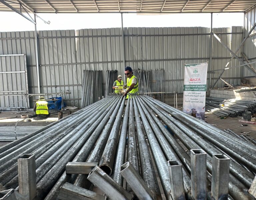
[[[256,8],[252,11],[245,14],[245,35],[251,30],[252,26],[256,23]],[[248,57],[249,62],[256,61],[256,28],[252,31],[250,36],[244,44],[244,53]],[[256,63],[252,64],[254,69],[256,69]],[[244,68],[243,76],[254,76],[254,74],[248,70],[248,68]]]

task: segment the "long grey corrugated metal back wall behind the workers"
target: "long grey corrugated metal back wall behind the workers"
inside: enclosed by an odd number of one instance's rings
[[[234,51],[242,40],[243,27],[213,29]],[[39,31],[39,75],[41,92],[64,95],[68,105],[80,106],[84,69],[117,69],[124,76],[121,28]],[[0,33],[0,54],[27,55],[29,91],[37,93],[33,32]],[[124,28],[125,65],[133,69],[165,69],[166,91],[182,92],[184,65],[209,61],[210,29],[204,27]],[[222,69],[230,53],[213,38],[212,70]],[[238,65],[233,59],[231,66]],[[209,69],[208,69],[209,70]],[[212,84],[220,71],[214,71]],[[227,70],[222,76],[240,83],[241,69]],[[209,74],[208,74],[209,85]],[[218,81],[222,87],[222,81]],[[153,87],[154,84],[153,84]],[[49,96],[50,98],[51,96]],[[31,102],[33,103],[33,102]]]

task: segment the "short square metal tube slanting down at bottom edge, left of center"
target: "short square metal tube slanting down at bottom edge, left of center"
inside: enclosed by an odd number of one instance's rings
[[[60,188],[58,199],[61,200],[106,200],[106,196],[100,195],[96,192],[78,187],[71,183],[64,183]]]

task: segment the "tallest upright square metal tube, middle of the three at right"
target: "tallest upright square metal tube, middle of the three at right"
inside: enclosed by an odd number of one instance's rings
[[[191,194],[194,199],[205,200],[206,191],[206,153],[202,149],[191,149]]]

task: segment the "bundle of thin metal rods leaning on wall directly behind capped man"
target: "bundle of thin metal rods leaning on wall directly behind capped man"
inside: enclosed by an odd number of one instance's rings
[[[152,92],[152,70],[135,69],[134,76],[139,81],[139,92],[150,93]],[[151,94],[147,94],[151,96]]]

